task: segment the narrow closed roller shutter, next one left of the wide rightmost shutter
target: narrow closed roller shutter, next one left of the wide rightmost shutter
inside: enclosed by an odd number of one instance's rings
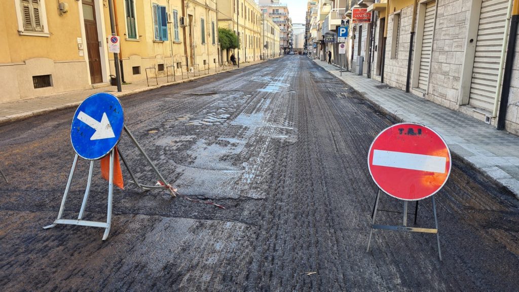
[[[434,32],[434,11],[436,2],[427,3],[425,10],[424,38],[420,57],[420,73],[418,74],[418,88],[427,90],[429,84],[429,64],[432,52],[432,36]]]

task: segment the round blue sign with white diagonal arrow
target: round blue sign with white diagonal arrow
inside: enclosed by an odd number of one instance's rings
[[[124,111],[119,100],[104,92],[85,99],[76,110],[70,138],[76,153],[97,160],[119,142],[124,127]]]

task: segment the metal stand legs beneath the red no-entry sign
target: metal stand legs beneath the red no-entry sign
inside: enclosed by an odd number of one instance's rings
[[[393,230],[393,231],[409,231],[409,232],[422,232],[422,233],[435,233],[436,234],[436,241],[438,243],[438,256],[440,257],[440,260],[442,260],[442,250],[440,249],[440,234],[438,234],[438,217],[436,216],[436,202],[434,201],[434,195],[431,196],[432,198],[432,211],[434,214],[434,226],[435,228],[418,228],[418,227],[408,227],[407,226],[407,201],[404,201],[404,218],[403,218],[403,224],[402,225],[379,225],[375,224],[375,218],[377,216],[377,211],[385,211],[385,210],[379,210],[378,209],[378,200],[380,198],[380,189],[377,192],[377,198],[375,200],[375,207],[373,208],[373,221],[371,223],[371,231],[370,231],[370,237],[367,240],[367,249],[366,251],[370,251],[370,244],[371,244],[371,236],[373,235],[374,229],[383,229],[383,230]],[[415,224],[416,224],[416,215],[418,211],[418,201],[416,201],[416,207],[415,207]],[[398,212],[400,213],[400,212]]]

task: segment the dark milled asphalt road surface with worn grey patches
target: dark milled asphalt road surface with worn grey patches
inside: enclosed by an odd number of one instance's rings
[[[376,192],[366,155],[392,121],[305,56],[121,102],[126,125],[179,192],[226,209],[141,192],[125,170],[107,241],[99,228],[43,230],[72,165],[74,109],[2,126],[3,291],[519,287],[519,203],[456,157],[436,194],[443,261],[432,234],[376,231],[366,253]],[[119,148],[141,180],[156,180],[127,137]],[[106,214],[107,183],[95,168],[86,220]],[[77,217],[87,172],[80,161],[65,218]],[[387,195],[380,204],[402,208]],[[430,198],[420,203],[418,225],[433,226],[431,208]],[[377,219],[398,224],[401,215]]]

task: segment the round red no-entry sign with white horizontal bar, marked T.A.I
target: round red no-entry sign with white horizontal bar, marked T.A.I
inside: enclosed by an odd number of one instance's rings
[[[431,128],[393,125],[378,134],[367,157],[370,174],[387,194],[416,201],[438,192],[450,174],[450,151]]]

